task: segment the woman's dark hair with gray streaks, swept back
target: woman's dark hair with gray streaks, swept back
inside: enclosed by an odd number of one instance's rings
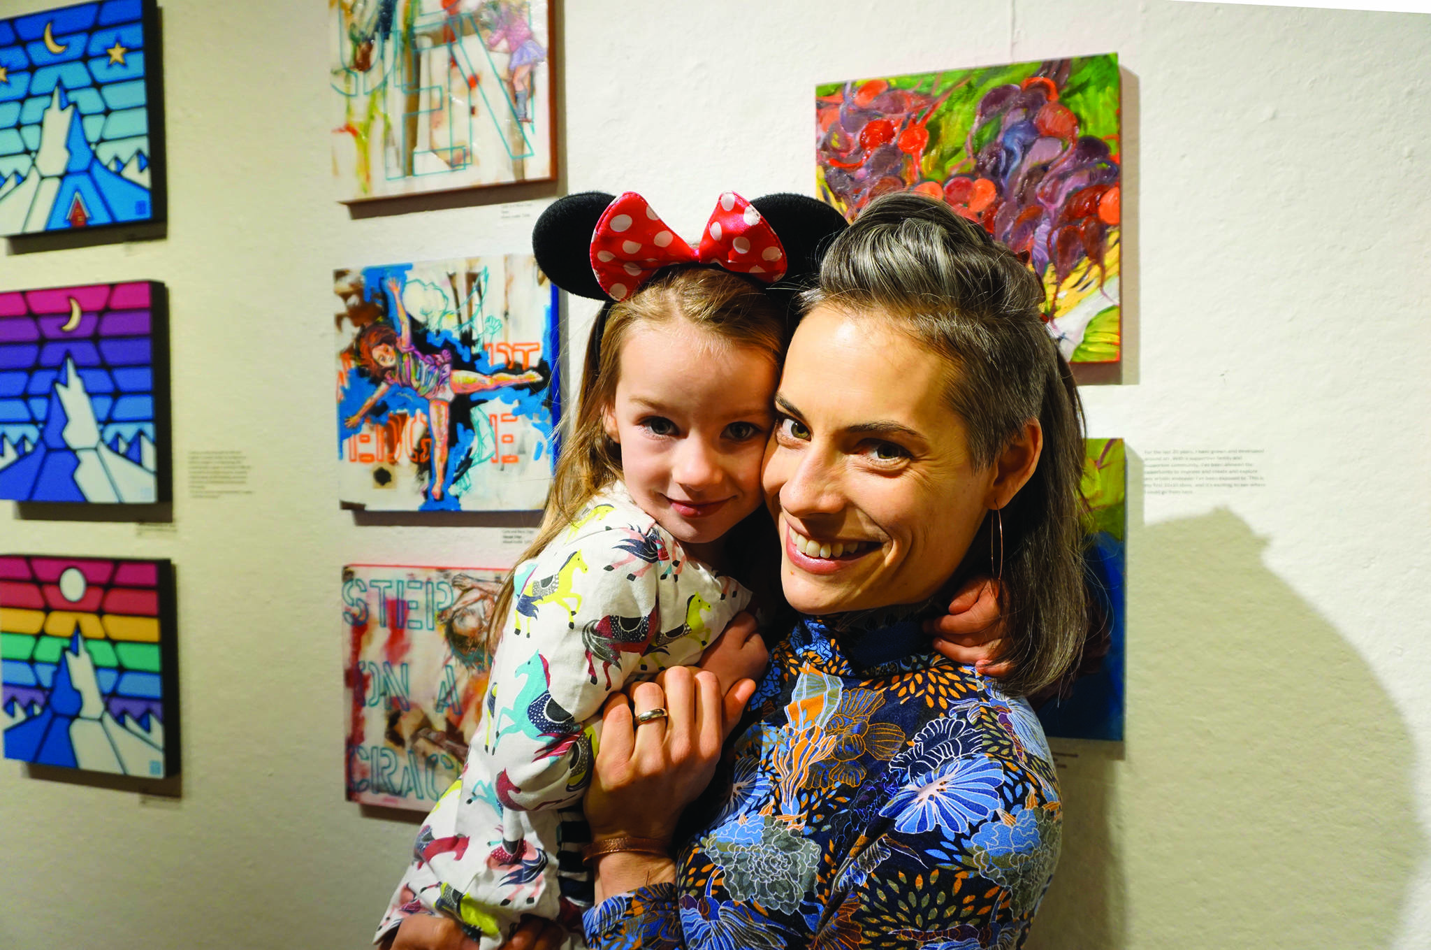
[[[871,202],[834,240],[820,283],[801,303],[883,316],[947,359],[949,405],[967,426],[979,468],[992,465],[1026,421],[1039,421],[1037,468],[1002,512],[1000,660],[1013,672],[1000,685],[1027,695],[1055,682],[1078,658],[1089,624],[1083,412],[1039,315],[1039,279],[947,205],[900,193]],[[993,512],[985,524],[992,528]]]

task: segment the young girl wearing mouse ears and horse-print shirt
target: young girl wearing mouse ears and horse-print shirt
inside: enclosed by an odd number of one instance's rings
[[[633,193],[542,215],[542,270],[607,306],[542,528],[498,597],[505,625],[467,765],[421,828],[378,940],[435,910],[498,947],[522,914],[571,920],[590,901],[580,813],[561,810],[580,807],[607,695],[701,661],[750,604],[724,571],[751,552],[724,541],[763,504],[787,339],[786,302],[761,282],[798,286],[843,227],[803,196],[723,195],[700,249]],[[704,665],[724,691],[766,661],[757,637]]]

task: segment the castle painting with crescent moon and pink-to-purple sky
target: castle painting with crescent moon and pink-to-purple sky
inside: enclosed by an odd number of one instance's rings
[[[0,498],[169,501],[169,458],[162,283],[0,293]]]

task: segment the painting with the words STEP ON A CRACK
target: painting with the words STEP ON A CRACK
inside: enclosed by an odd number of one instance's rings
[[[505,571],[343,568],[349,801],[432,808],[481,718],[484,648]]]

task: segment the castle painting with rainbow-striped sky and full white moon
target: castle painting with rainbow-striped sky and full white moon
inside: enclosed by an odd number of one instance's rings
[[[0,555],[0,655],[6,758],[177,774],[167,561]]]

